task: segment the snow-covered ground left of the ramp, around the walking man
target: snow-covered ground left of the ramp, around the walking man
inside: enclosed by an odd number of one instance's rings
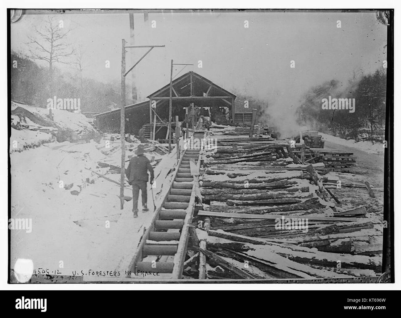
[[[18,106],[49,120],[45,117],[47,109]],[[58,127],[77,134],[93,131],[82,114],[55,110],[53,115]],[[117,169],[121,166],[121,143],[111,141],[110,137],[106,135],[97,142],[93,139],[55,142],[48,133],[12,128],[11,218],[31,219],[32,228],[11,231],[11,268],[19,258],[32,260],[36,272],[43,268],[49,274],[56,271],[81,276],[82,270],[88,276],[92,270],[98,271],[95,277],[101,278],[113,276],[103,272],[128,268],[144,228],[154,216],[153,200],[148,184],[148,213],[140,212],[134,219],[132,200],[120,209],[120,174],[107,165]],[[19,151],[12,148],[14,140]],[[43,140],[49,143],[42,144]],[[23,148],[28,144],[31,147]],[[137,146],[138,143],[127,143],[126,166]],[[160,205],[171,182],[170,169],[176,164],[176,153],[162,156],[150,151],[146,156],[155,159],[153,193],[156,205]],[[132,197],[128,183],[124,196]],[[141,198],[138,206],[142,206]],[[121,270],[117,277],[124,276]]]

